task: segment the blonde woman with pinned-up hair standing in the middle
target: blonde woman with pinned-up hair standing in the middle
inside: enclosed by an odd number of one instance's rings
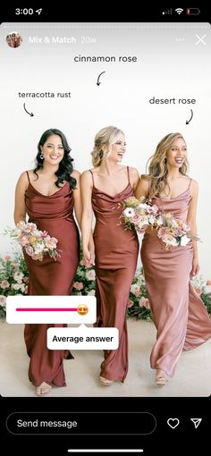
[[[119,348],[105,350],[100,383],[124,381],[128,371],[126,310],[135,274],[139,242],[136,232],[120,224],[122,201],[133,195],[139,181],[136,169],[121,165],[126,152],[124,134],[109,126],[97,132],[93,168],[81,176],[83,257],[94,263],[89,249],[92,210],[96,216],[94,243],[97,274],[97,325],[119,330]]]

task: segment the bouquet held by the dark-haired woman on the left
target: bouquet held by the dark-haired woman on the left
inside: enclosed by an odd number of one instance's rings
[[[4,230],[4,232],[9,234],[13,240],[18,241],[21,248],[32,259],[42,261],[45,255],[49,255],[55,260],[60,257],[56,249],[57,239],[51,238],[46,231],[39,231],[36,224],[21,221],[15,229]]]

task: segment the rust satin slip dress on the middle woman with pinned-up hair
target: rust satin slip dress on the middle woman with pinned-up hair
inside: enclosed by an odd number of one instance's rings
[[[90,171],[91,173],[91,171]],[[127,167],[128,179],[129,168]],[[92,179],[93,179],[93,173]],[[135,274],[139,241],[137,234],[120,224],[123,199],[133,195],[130,179],[127,187],[114,197],[95,187],[92,205],[96,216],[93,234],[96,249],[97,326],[119,330],[119,348],[105,350],[100,376],[123,380],[128,372],[128,335],[126,310]]]

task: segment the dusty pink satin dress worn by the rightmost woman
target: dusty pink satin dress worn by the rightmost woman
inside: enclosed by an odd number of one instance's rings
[[[185,223],[190,199],[189,184],[177,198],[155,197],[152,203]],[[192,258],[191,241],[165,250],[155,232],[144,235],[141,260],[157,330],[150,362],[168,376],[173,376],[181,350],[194,349],[211,337],[207,308],[190,283]]]

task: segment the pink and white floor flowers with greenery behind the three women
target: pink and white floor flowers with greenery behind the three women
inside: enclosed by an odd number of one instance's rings
[[[72,285],[72,294],[94,296],[95,277],[95,270],[86,268],[81,260]],[[13,256],[0,257],[0,317],[5,317],[6,297],[27,295],[28,283],[29,273],[21,251],[15,251]],[[192,283],[211,314],[211,280],[205,281],[201,275],[198,275],[192,279]],[[152,321],[142,268],[137,271],[131,284],[127,316]]]

